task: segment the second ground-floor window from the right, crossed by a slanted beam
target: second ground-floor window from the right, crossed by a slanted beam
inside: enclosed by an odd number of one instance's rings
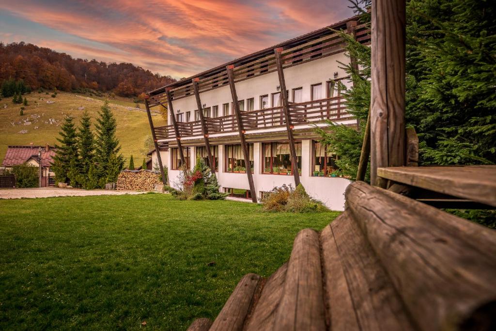
[[[302,143],[295,142],[299,172],[302,169]],[[264,174],[292,175],[289,142],[264,142],[262,144],[262,167]]]

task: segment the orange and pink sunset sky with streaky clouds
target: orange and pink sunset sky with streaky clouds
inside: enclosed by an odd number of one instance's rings
[[[181,78],[353,15],[347,0],[2,0],[0,41]]]

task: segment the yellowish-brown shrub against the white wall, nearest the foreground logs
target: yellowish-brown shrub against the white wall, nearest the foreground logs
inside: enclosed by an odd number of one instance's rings
[[[261,200],[265,211],[289,211],[294,213],[311,213],[328,210],[324,204],[312,199],[302,184],[295,189],[284,184],[274,188]]]

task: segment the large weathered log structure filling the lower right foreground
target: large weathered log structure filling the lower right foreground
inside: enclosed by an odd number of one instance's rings
[[[364,182],[188,330],[496,330],[496,231]]]

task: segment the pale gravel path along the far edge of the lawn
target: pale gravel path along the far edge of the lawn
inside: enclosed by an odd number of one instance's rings
[[[120,196],[123,194],[143,194],[143,193],[146,192],[60,189],[60,188],[50,187],[50,188],[36,188],[36,189],[3,189],[0,190],[0,199]]]

